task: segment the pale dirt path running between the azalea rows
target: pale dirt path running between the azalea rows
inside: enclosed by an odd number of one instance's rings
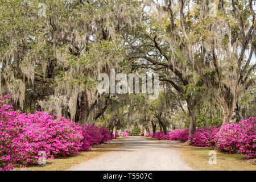
[[[68,170],[192,170],[181,161],[176,141],[128,137],[123,146]]]

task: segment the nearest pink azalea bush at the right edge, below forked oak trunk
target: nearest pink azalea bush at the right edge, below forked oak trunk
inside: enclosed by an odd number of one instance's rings
[[[239,123],[223,123],[215,140],[221,151],[256,158],[256,117],[242,119]]]

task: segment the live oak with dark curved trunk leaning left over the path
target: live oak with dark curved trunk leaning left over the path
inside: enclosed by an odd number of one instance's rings
[[[126,38],[128,57],[134,67],[159,73],[159,80],[168,82],[185,99],[191,135],[196,130],[196,105],[202,85],[192,61],[185,56],[186,50],[180,48],[182,38],[172,35],[170,23],[168,14],[146,14],[134,35]]]

